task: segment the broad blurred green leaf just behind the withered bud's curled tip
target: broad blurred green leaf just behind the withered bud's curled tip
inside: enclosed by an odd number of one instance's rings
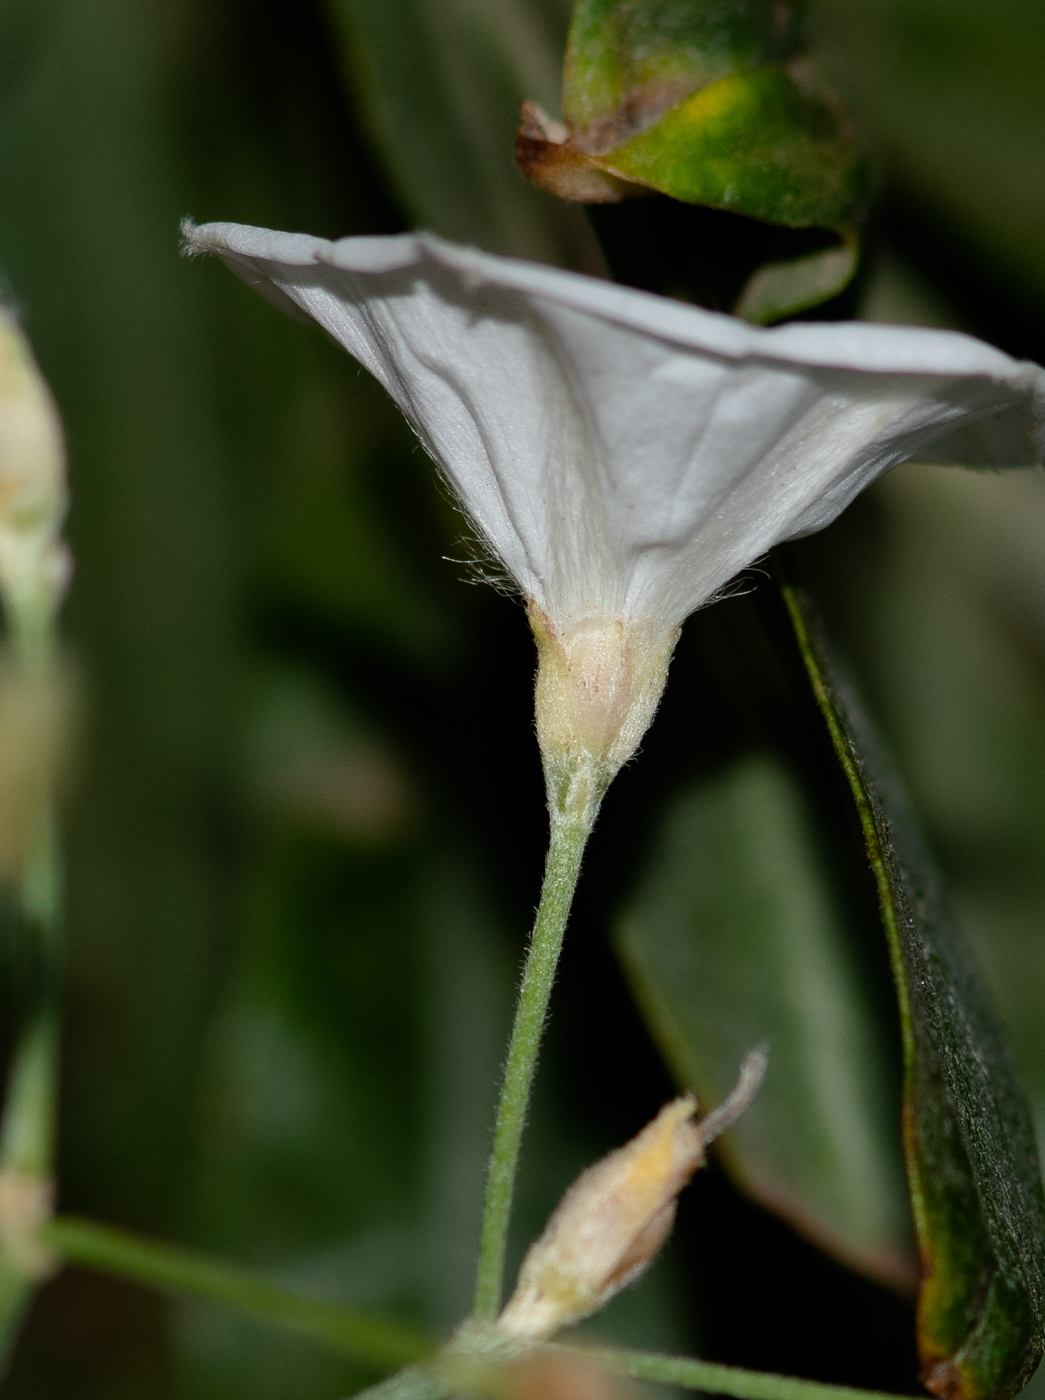
[[[912,1288],[888,1030],[824,844],[797,777],[745,755],[668,813],[618,946],[702,1103],[769,1040],[766,1082],[723,1144],[731,1173],[852,1266]]]

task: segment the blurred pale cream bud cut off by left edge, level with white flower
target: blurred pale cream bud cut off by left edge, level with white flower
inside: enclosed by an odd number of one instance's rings
[[[29,343],[0,308],[0,594],[11,626],[49,626],[70,574],[62,423]]]

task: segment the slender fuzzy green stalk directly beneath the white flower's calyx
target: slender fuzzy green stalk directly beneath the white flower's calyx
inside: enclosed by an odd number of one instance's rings
[[[581,818],[565,815],[562,811],[552,812],[541,903],[522,973],[515,1022],[511,1028],[486,1177],[486,1204],[475,1280],[475,1316],[486,1320],[493,1320],[500,1312],[518,1149],[537,1070],[541,1032],[548,1015],[548,1000],[594,816],[594,811],[587,809]]]

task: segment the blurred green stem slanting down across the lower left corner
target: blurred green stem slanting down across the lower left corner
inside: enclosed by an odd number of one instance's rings
[[[59,1215],[39,1235],[70,1263],[120,1274],[162,1292],[206,1298],[290,1327],[377,1371],[419,1361],[437,1345],[434,1337],[408,1323],[301,1298],[249,1270],[109,1225]]]

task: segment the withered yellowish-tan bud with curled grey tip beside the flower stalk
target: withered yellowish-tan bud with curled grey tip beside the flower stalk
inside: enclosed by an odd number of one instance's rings
[[[707,1144],[751,1103],[765,1068],[765,1051],[752,1051],[737,1088],[702,1123],[693,1121],[692,1095],[675,1099],[577,1177],[522,1260],[497,1322],[501,1333],[542,1341],[597,1312],[646,1270],[671,1232],[678,1193],[703,1166]]]

